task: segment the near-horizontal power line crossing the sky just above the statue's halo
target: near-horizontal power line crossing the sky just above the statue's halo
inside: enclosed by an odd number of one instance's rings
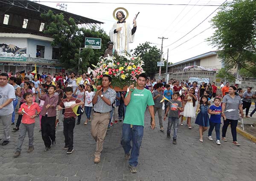
[[[220,6],[216,4],[167,4],[167,3],[106,3],[106,2],[79,2],[79,1],[42,1],[35,0],[40,3],[83,3],[83,4],[132,4],[132,5],[166,5],[166,6]]]

